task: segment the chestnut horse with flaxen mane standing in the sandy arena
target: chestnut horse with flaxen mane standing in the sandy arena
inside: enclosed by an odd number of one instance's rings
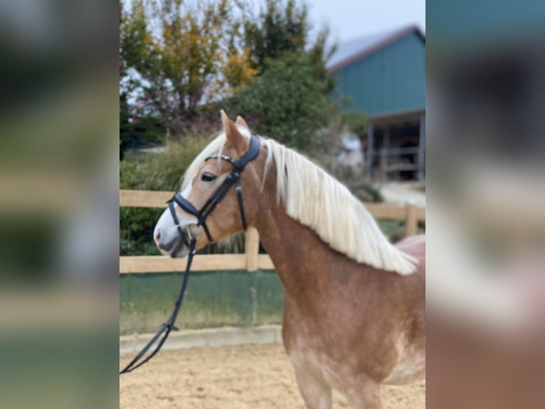
[[[256,138],[242,118],[233,123],[223,111],[222,118],[223,133],[184,177],[181,197],[192,209],[233,175],[232,158]],[[176,202],[177,225],[166,209],[157,246],[185,257],[190,237],[201,248],[210,237],[240,232],[245,219],[285,289],[282,338],[307,408],[332,408],[332,389],[354,408],[381,408],[381,384],[425,376],[424,239],[390,244],[344,185],[297,152],[258,140],[255,159],[240,172],[244,217],[235,189],[207,217],[208,231]],[[217,159],[206,160],[211,155]]]

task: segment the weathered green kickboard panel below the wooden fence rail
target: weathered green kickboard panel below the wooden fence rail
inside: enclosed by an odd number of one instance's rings
[[[174,309],[182,273],[120,275],[120,335],[151,333]],[[281,323],[284,290],[275,271],[191,273],[176,326]]]

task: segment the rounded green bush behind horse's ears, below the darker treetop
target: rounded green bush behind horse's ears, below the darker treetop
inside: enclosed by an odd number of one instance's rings
[[[243,115],[256,132],[297,149],[319,143],[317,130],[334,113],[314,63],[295,53],[268,60],[260,78],[236,93],[226,108],[231,115]]]

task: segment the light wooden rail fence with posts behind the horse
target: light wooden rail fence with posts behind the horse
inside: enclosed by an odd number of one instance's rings
[[[147,190],[120,190],[120,207],[166,207],[174,192],[152,192]],[[376,219],[394,219],[405,222],[405,236],[417,232],[419,220],[425,220],[425,207],[411,204],[405,206],[384,203],[366,203],[366,209]],[[186,259],[172,259],[168,256],[123,256],[120,257],[120,274],[159,273],[184,271]],[[259,234],[253,227],[248,228],[245,237],[244,254],[199,254],[193,260],[191,271],[240,270],[255,271],[274,269],[268,254],[259,254]]]

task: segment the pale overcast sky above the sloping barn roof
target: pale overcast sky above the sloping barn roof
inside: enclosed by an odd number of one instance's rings
[[[416,24],[425,31],[425,0],[307,0],[314,24],[339,42]]]

